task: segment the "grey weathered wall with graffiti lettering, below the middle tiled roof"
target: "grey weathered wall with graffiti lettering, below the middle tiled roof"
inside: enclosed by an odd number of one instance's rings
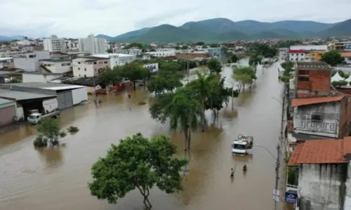
[[[312,114],[322,115],[322,122],[311,119]],[[340,102],[320,103],[296,107],[293,128],[296,133],[338,138]]]

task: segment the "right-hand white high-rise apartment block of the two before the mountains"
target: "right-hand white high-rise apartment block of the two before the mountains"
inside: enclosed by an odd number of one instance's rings
[[[107,50],[106,39],[95,38],[94,34],[89,34],[88,38],[78,39],[78,46],[79,51],[92,54],[106,53]]]

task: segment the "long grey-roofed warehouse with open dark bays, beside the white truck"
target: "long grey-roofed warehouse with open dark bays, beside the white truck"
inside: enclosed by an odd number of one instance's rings
[[[25,105],[26,117],[30,109],[43,110],[44,100],[57,98],[58,110],[63,110],[88,100],[88,94],[85,86],[29,82],[0,84],[0,98],[16,100],[18,107]]]

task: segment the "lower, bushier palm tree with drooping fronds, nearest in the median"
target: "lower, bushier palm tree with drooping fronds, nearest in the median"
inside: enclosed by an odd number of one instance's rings
[[[176,93],[172,102],[166,107],[166,115],[171,119],[171,129],[180,128],[184,133],[184,150],[190,149],[191,131],[197,129],[201,106],[199,101],[188,97],[181,91]]]

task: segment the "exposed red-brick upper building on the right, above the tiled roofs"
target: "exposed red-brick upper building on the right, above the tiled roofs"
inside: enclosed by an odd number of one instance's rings
[[[331,94],[331,68],[324,62],[298,62],[295,65],[295,98]]]

